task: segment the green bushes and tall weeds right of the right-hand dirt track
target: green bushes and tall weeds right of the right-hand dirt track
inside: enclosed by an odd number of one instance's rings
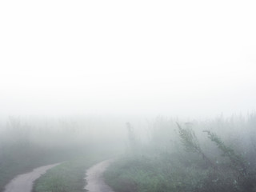
[[[181,126],[157,119],[140,153],[118,159],[106,182],[117,192],[254,192],[256,150],[248,137],[255,136],[255,120],[252,114]]]

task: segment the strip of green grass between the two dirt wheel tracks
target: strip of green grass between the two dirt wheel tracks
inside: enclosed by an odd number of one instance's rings
[[[34,192],[82,192],[86,185],[86,169],[95,163],[106,159],[107,156],[88,155],[82,158],[63,162],[48,170],[34,182]]]

